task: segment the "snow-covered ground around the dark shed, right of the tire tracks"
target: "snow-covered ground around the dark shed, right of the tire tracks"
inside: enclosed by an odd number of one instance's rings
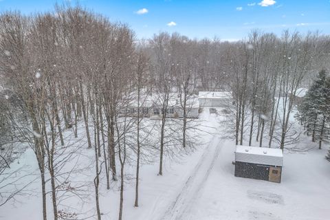
[[[223,142],[214,168],[183,219],[329,219],[325,150],[285,153],[281,184],[234,177],[234,144]]]

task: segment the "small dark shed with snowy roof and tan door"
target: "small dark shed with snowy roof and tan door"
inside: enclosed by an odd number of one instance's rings
[[[281,183],[283,151],[278,148],[236,146],[235,177]]]

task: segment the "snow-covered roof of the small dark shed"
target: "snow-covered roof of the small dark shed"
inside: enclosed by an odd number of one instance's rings
[[[283,152],[278,148],[237,145],[235,160],[252,164],[283,166]]]

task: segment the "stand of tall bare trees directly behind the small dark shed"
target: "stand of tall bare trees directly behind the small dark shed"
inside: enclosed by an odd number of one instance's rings
[[[243,144],[248,133],[251,145],[256,133],[260,146],[271,147],[276,140],[283,149],[297,137],[289,117],[298,89],[308,87],[315,72],[329,61],[329,37],[285,31],[278,38],[252,32],[248,41],[234,45],[227,53],[227,72],[234,75],[228,80],[236,103],[236,144]]]

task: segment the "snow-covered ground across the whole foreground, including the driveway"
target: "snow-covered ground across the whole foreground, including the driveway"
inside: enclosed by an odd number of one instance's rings
[[[124,219],[329,219],[330,218],[330,163],[324,159],[326,149],[316,147],[304,153],[285,151],[281,184],[234,177],[234,142],[222,137],[221,122],[208,111],[201,114],[212,134],[205,134],[205,144],[179,161],[165,163],[164,175],[157,176],[158,164],[144,164],[140,170],[140,206],[134,203],[134,167],[126,166],[124,191]],[[218,117],[219,118],[219,117]],[[214,129],[212,129],[214,127]],[[305,140],[305,144],[309,144]],[[305,145],[302,148],[305,148]],[[326,148],[326,147],[325,147]],[[89,184],[87,201],[72,201],[80,217],[95,214],[94,152],[81,148],[81,165],[88,167],[77,178]],[[13,167],[36,170],[31,150]],[[19,164],[18,164],[19,162]],[[132,164],[133,165],[133,164]],[[91,170],[89,170],[91,169]],[[35,178],[38,175],[36,170]],[[91,173],[88,175],[88,173]],[[119,183],[107,190],[104,179],[100,186],[102,219],[118,219]],[[0,207],[0,219],[42,219],[39,181],[29,186],[29,194]],[[52,219],[52,207],[47,203]],[[69,200],[68,200],[69,201]],[[91,217],[93,219],[93,217]]]

